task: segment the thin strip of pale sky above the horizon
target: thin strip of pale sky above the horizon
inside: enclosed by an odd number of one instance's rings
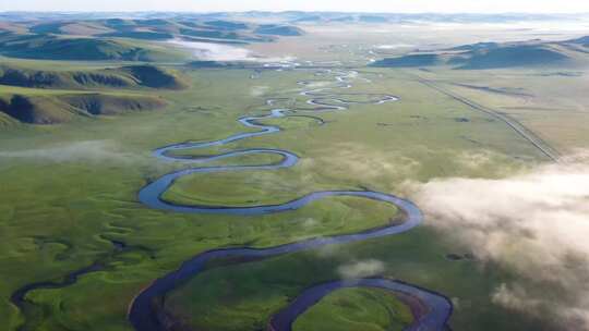
[[[589,13],[587,0],[0,0],[0,11],[356,11]]]

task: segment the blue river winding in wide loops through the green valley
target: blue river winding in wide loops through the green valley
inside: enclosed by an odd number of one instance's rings
[[[136,295],[129,308],[129,320],[137,331],[161,331],[165,330],[165,326],[159,320],[161,316],[156,311],[158,308],[153,303],[164,296],[166,293],[172,291],[175,287],[182,284],[190,278],[197,275],[205,270],[205,265],[215,259],[220,258],[236,258],[236,261],[245,261],[251,259],[261,259],[275,257],[288,253],[296,253],[301,250],[314,249],[326,245],[340,244],[340,243],[353,243],[361,242],[375,237],[383,237],[389,235],[401,234],[406,231],[413,229],[422,222],[422,213],[419,208],[411,201],[399,198],[397,196],[372,192],[372,191],[323,191],[314,192],[305,196],[299,197],[291,201],[266,205],[266,206],[252,206],[252,207],[226,207],[226,206],[181,206],[175,205],[169,201],[165,201],[161,195],[173,184],[173,182],[182,176],[194,173],[218,173],[218,172],[235,172],[235,171],[273,171],[283,168],[290,168],[297,164],[299,156],[283,149],[266,149],[266,148],[252,148],[243,150],[235,150],[221,155],[199,157],[191,159],[190,157],[173,156],[173,151],[179,150],[195,150],[212,146],[220,146],[237,142],[240,139],[247,139],[261,135],[275,134],[280,131],[278,126],[264,125],[261,121],[266,119],[283,118],[289,115],[300,115],[300,112],[322,112],[322,111],[339,111],[346,110],[351,103],[372,103],[382,105],[385,102],[397,101],[398,98],[389,95],[374,95],[374,94],[346,94],[336,93],[335,90],[350,88],[351,82],[358,77],[358,73],[353,71],[326,71],[323,75],[333,76],[334,82],[330,82],[330,86],[322,88],[311,88],[311,81],[299,82],[302,86],[300,93],[301,96],[308,97],[306,103],[312,106],[311,109],[284,109],[276,108],[269,111],[266,115],[259,117],[243,117],[238,121],[247,127],[256,128],[255,132],[239,133],[227,138],[205,142],[205,143],[180,143],[158,148],[154,151],[154,157],[160,160],[187,162],[192,167],[168,173],[156,181],[147,184],[139,193],[139,199],[145,206],[149,208],[168,210],[172,212],[183,213],[221,213],[221,214],[266,214],[285,212],[289,210],[299,209],[309,205],[312,201],[324,199],[334,196],[353,196],[359,198],[377,200],[383,204],[390,204],[399,208],[406,216],[402,223],[390,223],[386,226],[378,229],[372,229],[360,233],[335,235],[328,237],[317,237],[280,246],[269,248],[220,248],[201,253],[190,260],[187,260],[182,266],[165,277],[155,280],[152,284],[145,287],[141,293]],[[369,79],[364,79],[366,83]],[[360,96],[365,100],[346,100],[350,96]],[[268,99],[267,105],[275,105],[277,99]],[[318,121],[322,122],[320,119]],[[220,167],[197,167],[199,164],[206,164],[207,162],[218,161],[226,158],[244,156],[244,155],[263,155],[274,154],[278,155],[281,160],[271,164],[257,164],[257,166],[220,166]],[[363,286],[375,287],[394,293],[400,294],[399,297],[412,308],[414,315],[414,321],[407,330],[445,330],[446,322],[452,314],[452,304],[443,295],[421,289],[405,282],[394,281],[389,279],[370,278],[358,280],[336,280],[329,283],[318,284],[311,289],[308,289],[301,295],[294,299],[288,307],[274,316],[268,322],[268,329],[273,331],[288,331],[291,330],[293,321],[298,316],[303,314],[306,309],[321,301],[322,297],[328,293],[342,287]],[[416,306],[420,306],[418,308]],[[424,307],[424,309],[422,309]]]

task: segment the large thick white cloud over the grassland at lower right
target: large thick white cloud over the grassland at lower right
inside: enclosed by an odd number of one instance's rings
[[[495,289],[493,303],[589,330],[587,160],[410,186],[428,224],[518,275]]]

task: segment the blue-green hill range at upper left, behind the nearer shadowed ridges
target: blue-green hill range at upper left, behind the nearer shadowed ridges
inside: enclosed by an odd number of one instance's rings
[[[289,24],[254,24],[208,17],[65,20],[56,14],[55,19],[43,21],[1,20],[0,54],[46,60],[176,61],[181,56],[175,53],[173,48],[141,41],[180,39],[249,44],[304,34],[303,29]]]

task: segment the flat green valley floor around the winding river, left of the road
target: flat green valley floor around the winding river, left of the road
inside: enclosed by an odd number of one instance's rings
[[[236,182],[251,182],[252,173],[244,172],[182,179],[169,194],[182,192],[187,203],[204,199],[220,204],[227,203],[220,196],[225,188],[235,192],[232,201],[238,205],[251,199],[279,203],[320,186],[369,187],[404,195],[407,181],[501,176],[544,160],[526,140],[489,115],[411,81],[402,72],[372,70],[382,71],[384,77],[375,78],[374,84],[358,81],[352,91],[394,94],[401,101],[311,113],[327,124],[313,128],[285,125],[279,134],[224,146],[284,148],[299,155],[301,161],[292,169],[260,173],[262,181],[284,186],[257,183],[236,187]],[[152,254],[116,255],[107,268],[81,277],[73,285],[31,292],[27,299],[41,306],[45,314],[40,318],[38,309],[32,308],[27,312],[31,326],[37,330],[130,330],[125,311],[137,291],[200,252],[242,245],[267,247],[315,235],[357,232],[397,217],[394,208],[356,198],[327,199],[297,211],[255,218],[176,214],[139,204],[136,193],[147,181],[183,168],[181,163],[154,160],[152,149],[248,131],[236,119],[268,110],[265,97],[292,98],[303,107],[305,98],[298,95],[296,83],[314,78],[313,72],[265,71],[255,84],[268,89],[266,96],[257,96],[252,94],[251,72],[247,70],[192,71],[187,75],[190,88],[158,90],[169,102],[165,111],[55,126],[24,125],[0,132],[1,189],[5,197],[0,205],[0,233],[5,236],[0,244],[4,271],[0,320],[9,329],[23,321],[8,301],[13,291],[36,281],[59,280],[112,254],[115,248],[105,238],[146,247]],[[232,91],[230,98],[228,90]],[[55,93],[36,90],[43,91]],[[272,121],[280,125],[291,120]],[[77,145],[80,142],[85,145]],[[207,149],[194,155],[215,152]],[[469,163],[471,154],[484,154],[485,161]],[[255,162],[251,158],[243,161]],[[201,192],[203,183],[216,185],[218,191]],[[39,245],[39,238],[55,243]],[[422,226],[404,235],[344,245],[330,252],[213,269],[171,293],[166,307],[179,316],[187,311],[191,316],[188,322],[194,326],[215,326],[218,330],[263,326],[273,311],[302,289],[337,278],[340,265],[375,258],[385,262],[385,275],[440,291],[464,303],[452,319],[457,330],[536,326],[490,303],[494,285],[509,274],[498,269],[483,273],[473,262],[444,258],[457,249]],[[228,284],[233,291],[217,296]],[[205,316],[202,311],[214,314],[201,320],[199,317]],[[513,323],[517,318],[521,320]]]

